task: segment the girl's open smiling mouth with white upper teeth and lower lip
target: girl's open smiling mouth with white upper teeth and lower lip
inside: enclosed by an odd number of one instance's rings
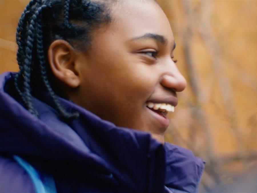
[[[168,112],[174,112],[174,106],[166,103],[146,102],[146,108],[150,114],[156,118],[165,128],[169,125],[169,120],[166,115]]]

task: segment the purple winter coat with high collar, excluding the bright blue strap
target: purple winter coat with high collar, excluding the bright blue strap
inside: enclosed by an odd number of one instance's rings
[[[80,113],[65,123],[42,91],[33,98],[36,118],[17,101],[14,75],[0,76],[1,193],[35,192],[13,155],[39,174],[52,174],[58,193],[198,192],[205,162],[190,150],[168,142],[162,145],[148,132],[117,127],[60,98],[68,111]]]

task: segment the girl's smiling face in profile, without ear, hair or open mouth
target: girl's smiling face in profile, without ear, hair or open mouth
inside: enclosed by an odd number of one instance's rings
[[[112,13],[113,22],[94,31],[91,48],[76,53],[79,86],[67,94],[117,126],[163,134],[168,120],[146,102],[176,106],[176,91],[186,87],[172,60],[168,19],[154,1],[124,1]]]

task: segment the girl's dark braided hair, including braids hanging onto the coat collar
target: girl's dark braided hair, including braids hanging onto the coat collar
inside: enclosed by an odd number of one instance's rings
[[[75,49],[90,47],[90,32],[100,24],[111,22],[110,5],[116,0],[31,0],[17,26],[17,61],[19,72],[14,85],[23,106],[38,116],[32,103],[35,85],[43,85],[61,118],[70,120],[78,113],[67,112],[60,104],[51,84],[47,49],[51,42],[63,39]]]

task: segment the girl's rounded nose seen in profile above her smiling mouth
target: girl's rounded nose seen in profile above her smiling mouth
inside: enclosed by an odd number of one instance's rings
[[[177,68],[169,70],[162,77],[161,84],[164,87],[174,89],[176,92],[181,92],[186,88],[186,79]]]

